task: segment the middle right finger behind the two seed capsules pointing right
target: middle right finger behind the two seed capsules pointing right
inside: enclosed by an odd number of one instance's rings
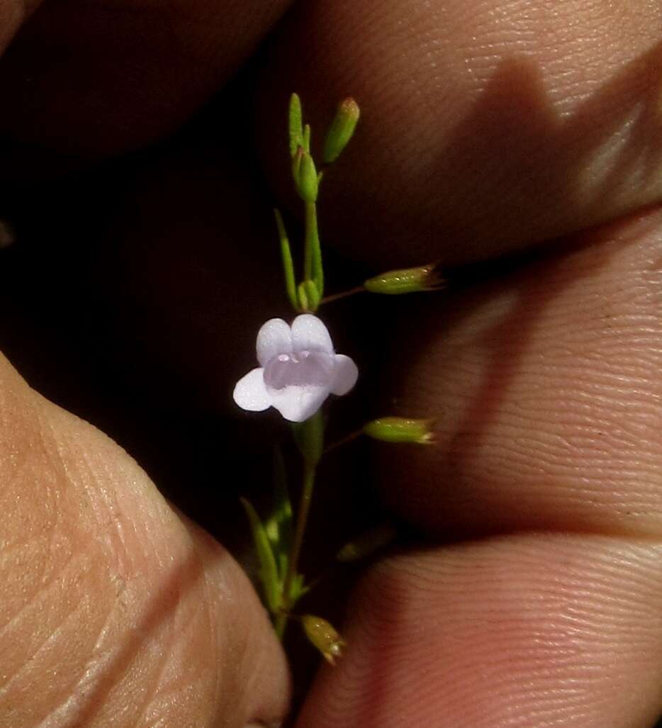
[[[437,441],[382,448],[393,507],[444,537],[661,533],[661,222],[642,213],[414,304],[390,392],[436,419]]]

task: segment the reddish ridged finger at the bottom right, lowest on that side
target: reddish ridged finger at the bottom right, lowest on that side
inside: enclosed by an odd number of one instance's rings
[[[650,540],[520,533],[389,558],[297,728],[650,728],[661,598]]]

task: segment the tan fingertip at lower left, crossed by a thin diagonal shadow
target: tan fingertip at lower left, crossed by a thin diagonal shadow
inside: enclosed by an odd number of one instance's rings
[[[285,660],[237,563],[4,359],[0,397],[0,724],[279,719]]]

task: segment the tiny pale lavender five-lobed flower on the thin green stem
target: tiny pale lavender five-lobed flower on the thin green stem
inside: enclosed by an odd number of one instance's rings
[[[326,326],[312,314],[301,314],[289,326],[270,319],[257,337],[259,367],[235,387],[235,402],[259,412],[275,407],[290,422],[304,422],[330,394],[346,395],[356,383],[355,363],[334,352]]]

